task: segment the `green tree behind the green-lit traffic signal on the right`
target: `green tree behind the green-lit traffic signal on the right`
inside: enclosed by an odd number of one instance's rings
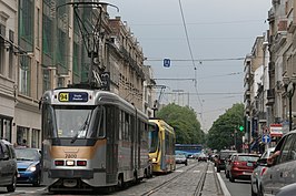
[[[223,149],[241,146],[241,137],[244,132],[239,131],[239,126],[244,124],[244,104],[234,104],[213,124],[207,135],[207,145],[213,149]]]

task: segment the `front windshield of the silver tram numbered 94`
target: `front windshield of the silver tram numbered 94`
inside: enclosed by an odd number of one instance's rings
[[[50,112],[51,111],[51,112]],[[49,118],[53,126],[48,130],[50,137],[77,138],[105,136],[105,109],[102,106],[50,106]],[[50,126],[49,126],[50,127]]]

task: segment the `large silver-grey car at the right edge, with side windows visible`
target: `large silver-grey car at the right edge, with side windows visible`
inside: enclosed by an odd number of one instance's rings
[[[262,177],[262,190],[265,195],[276,195],[282,187],[296,183],[296,131],[279,140],[272,157]]]

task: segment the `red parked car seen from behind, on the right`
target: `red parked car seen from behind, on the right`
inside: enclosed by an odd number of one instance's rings
[[[250,179],[258,158],[257,154],[233,154],[229,163],[229,180],[233,183],[235,179]]]

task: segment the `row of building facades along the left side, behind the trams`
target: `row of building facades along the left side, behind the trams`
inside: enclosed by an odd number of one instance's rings
[[[108,91],[154,114],[152,70],[144,65],[130,28],[120,17],[110,18],[107,4],[75,10],[73,2],[79,1],[0,0],[0,137],[11,143],[24,138],[40,147],[40,97],[47,90],[88,82],[90,64],[108,75]],[[86,30],[97,27],[95,58],[76,13]]]

